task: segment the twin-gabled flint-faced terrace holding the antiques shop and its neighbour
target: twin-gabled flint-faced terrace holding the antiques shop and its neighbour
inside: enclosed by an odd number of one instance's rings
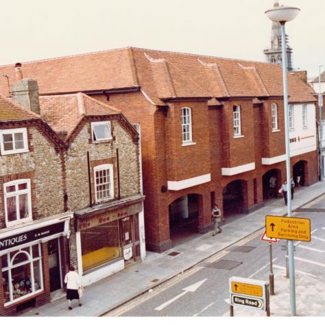
[[[0,97],[0,315],[49,302],[69,264],[86,286],[145,256],[136,128],[16,75],[12,100]]]

